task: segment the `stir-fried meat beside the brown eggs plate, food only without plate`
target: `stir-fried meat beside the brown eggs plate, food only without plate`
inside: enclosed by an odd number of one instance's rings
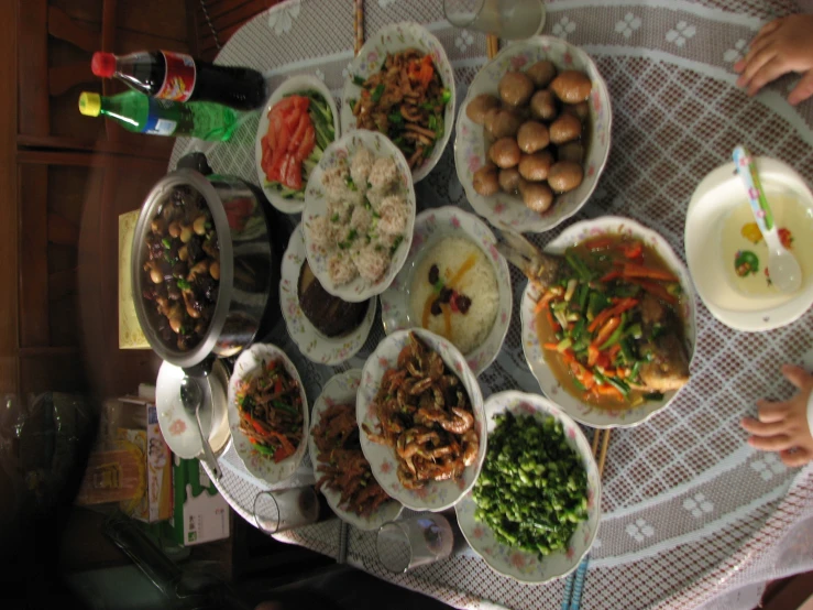
[[[353,80],[361,87],[359,99],[350,101],[358,128],[384,133],[410,168],[419,167],[443,137],[443,111],[451,99],[431,55],[416,48],[388,54],[381,70]]]

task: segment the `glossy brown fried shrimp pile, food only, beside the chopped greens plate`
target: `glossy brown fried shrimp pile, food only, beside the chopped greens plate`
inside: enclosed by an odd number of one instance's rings
[[[440,355],[415,335],[382,378],[373,401],[380,429],[362,425],[370,440],[392,447],[398,481],[420,489],[459,479],[474,464],[480,436],[462,382]]]

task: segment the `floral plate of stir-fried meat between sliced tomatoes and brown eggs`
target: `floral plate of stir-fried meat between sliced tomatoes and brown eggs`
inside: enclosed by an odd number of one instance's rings
[[[454,74],[440,41],[417,23],[376,32],[349,66],[343,133],[378,131],[400,149],[413,179],[440,160],[454,122]]]

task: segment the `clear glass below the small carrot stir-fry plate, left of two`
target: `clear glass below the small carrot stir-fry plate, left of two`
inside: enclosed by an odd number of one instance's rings
[[[310,525],[319,520],[319,499],[312,487],[261,491],[254,498],[254,522],[266,534]]]

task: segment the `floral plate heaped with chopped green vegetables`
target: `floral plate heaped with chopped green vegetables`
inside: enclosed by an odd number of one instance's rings
[[[586,437],[537,394],[485,402],[488,448],[476,483],[455,504],[471,547],[496,573],[541,584],[572,571],[601,520],[601,477]]]

